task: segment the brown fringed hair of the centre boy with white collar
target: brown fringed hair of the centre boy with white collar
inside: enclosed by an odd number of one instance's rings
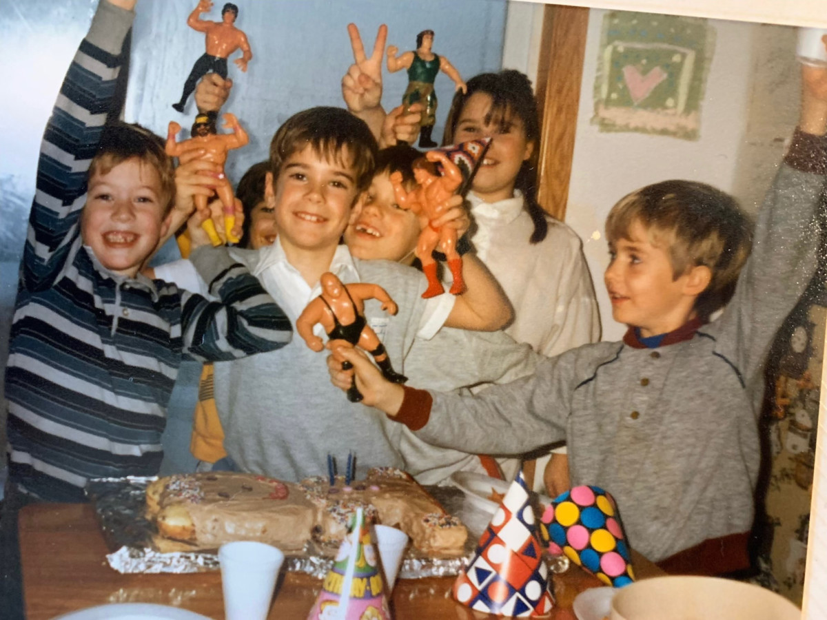
[[[320,157],[353,169],[356,189],[370,185],[376,160],[376,139],[364,121],[341,107],[311,107],[289,117],[270,142],[270,172],[273,182],[281,165],[310,145]],[[345,160],[347,150],[349,161]]]

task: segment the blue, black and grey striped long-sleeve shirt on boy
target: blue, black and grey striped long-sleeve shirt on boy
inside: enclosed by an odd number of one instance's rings
[[[79,216],[132,12],[100,2],[46,127],[6,372],[9,470],[24,492],[82,501],[93,477],[154,475],[180,361],[232,360],[289,342],[284,312],[226,250],[220,301],[105,269]]]

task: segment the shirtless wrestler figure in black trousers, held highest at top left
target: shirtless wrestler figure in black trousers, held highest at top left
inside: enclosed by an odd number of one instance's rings
[[[210,0],[199,0],[198,7],[189,14],[187,26],[206,36],[207,50],[201,58],[195,61],[193,70],[189,72],[189,78],[184,82],[184,93],[181,100],[173,103],[179,112],[184,112],[184,105],[189,95],[195,90],[198,79],[210,71],[217,73],[222,79],[227,79],[227,58],[236,50],[241,50],[241,58],[233,60],[241,71],[247,70],[247,63],[252,60],[253,53],[247,36],[240,31],[234,23],[238,17],[238,7],[232,2],[227,2],[221,10],[221,21],[206,21],[200,18],[201,13],[209,12],[213,8]]]

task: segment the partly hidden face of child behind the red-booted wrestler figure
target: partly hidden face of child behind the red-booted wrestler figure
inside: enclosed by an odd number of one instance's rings
[[[361,199],[361,211],[345,231],[345,243],[360,259],[414,260],[422,228],[414,213],[396,203],[390,174],[376,174]]]

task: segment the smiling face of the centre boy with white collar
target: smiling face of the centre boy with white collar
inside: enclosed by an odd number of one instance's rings
[[[273,183],[267,173],[265,196],[275,199],[275,224],[284,250],[329,250],[355,219],[358,193],[347,150],[342,161],[327,161],[307,145],[284,160]]]

